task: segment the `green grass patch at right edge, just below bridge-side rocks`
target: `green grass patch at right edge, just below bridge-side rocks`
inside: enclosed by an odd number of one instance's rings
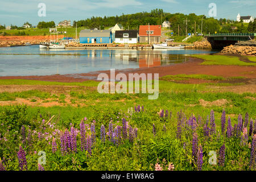
[[[192,55],[199,59],[205,60],[202,65],[240,65],[240,66],[255,66],[256,63],[246,63],[240,61],[236,56],[224,56],[224,55]]]

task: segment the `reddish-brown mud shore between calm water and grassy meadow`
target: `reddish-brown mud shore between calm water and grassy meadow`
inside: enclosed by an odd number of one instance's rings
[[[174,65],[164,65],[161,67],[151,68],[129,68],[129,69],[116,69],[115,74],[125,73],[159,73],[159,77],[166,75],[179,75],[179,74],[201,74],[213,75],[222,77],[237,77],[243,76],[247,78],[255,78],[255,67],[246,67],[238,65],[200,65],[203,60],[188,57],[188,61],[177,63]],[[0,76],[0,80],[39,80],[39,81],[56,81],[56,82],[84,82],[89,80],[97,81],[97,76],[100,73],[106,73],[110,77],[110,70],[108,71],[94,71],[88,73],[73,73],[65,75],[44,75],[44,76]]]

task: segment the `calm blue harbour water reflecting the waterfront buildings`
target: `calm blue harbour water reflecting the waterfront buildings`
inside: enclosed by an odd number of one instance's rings
[[[39,49],[39,46],[0,47],[0,76],[64,75],[104,71],[110,68],[156,67],[182,63],[187,61],[187,55],[209,53],[214,52],[193,49],[77,50]]]

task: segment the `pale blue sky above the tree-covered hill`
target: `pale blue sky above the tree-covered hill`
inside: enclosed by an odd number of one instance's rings
[[[46,17],[38,16],[38,4],[46,4]],[[208,15],[209,3],[216,3],[217,17],[236,19],[256,16],[256,0],[0,0],[0,24],[22,26],[24,22],[38,24],[40,21],[81,20],[91,16],[115,16],[133,14],[152,9],[168,13],[195,13]]]

